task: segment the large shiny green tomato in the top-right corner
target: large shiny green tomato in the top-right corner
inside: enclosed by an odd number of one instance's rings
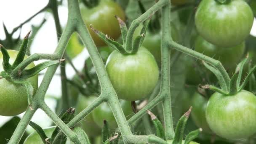
[[[253,25],[253,12],[244,0],[218,4],[202,0],[195,14],[197,31],[205,40],[220,47],[242,43]]]

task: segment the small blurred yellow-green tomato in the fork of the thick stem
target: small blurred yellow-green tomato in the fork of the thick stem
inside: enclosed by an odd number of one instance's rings
[[[77,33],[73,33],[67,43],[67,55],[73,59],[84,49],[83,43],[80,42],[80,37]]]

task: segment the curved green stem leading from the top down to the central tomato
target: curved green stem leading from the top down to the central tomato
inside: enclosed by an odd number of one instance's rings
[[[137,27],[139,27],[139,24],[147,20],[153,13],[158,11],[160,8],[162,8],[164,5],[168,4],[169,0],[159,0],[155,5],[153,5],[151,8],[149,8],[145,13],[143,13],[139,18],[133,20],[131,23],[131,26],[128,30],[127,37],[126,37],[126,43],[125,43],[125,49],[127,51],[131,51],[132,45],[133,45],[133,33]]]

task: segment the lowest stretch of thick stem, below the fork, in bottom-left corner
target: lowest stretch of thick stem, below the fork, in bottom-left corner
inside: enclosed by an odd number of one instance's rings
[[[27,111],[25,112],[24,116],[21,118],[21,121],[19,122],[17,128],[15,129],[13,135],[11,136],[11,139],[8,142],[8,144],[19,143],[24,132],[26,131],[27,125],[29,125],[31,118],[36,111],[37,111],[37,105],[35,103],[32,103],[31,106],[27,108]]]

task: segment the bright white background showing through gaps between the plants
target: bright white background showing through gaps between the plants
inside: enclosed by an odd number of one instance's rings
[[[0,39],[5,39],[5,34],[3,31],[3,22],[5,23],[5,26],[7,27],[8,31],[11,32],[14,27],[18,26],[20,23],[27,20],[30,16],[32,16],[37,11],[42,9],[45,5],[47,5],[47,3],[48,0],[0,0]],[[61,26],[64,27],[67,22],[66,0],[64,0],[64,6],[59,7],[59,17]],[[25,24],[22,27],[21,37],[24,37],[27,34],[27,32],[31,30],[32,24],[40,24],[43,18],[47,19],[47,21],[37,33],[37,36],[35,37],[35,40],[31,45],[31,53],[53,53],[53,51],[56,48],[57,37],[55,24],[53,16],[51,15],[51,13],[48,12],[44,12],[37,15],[34,19]],[[19,35],[19,32],[20,31],[16,32],[16,37]],[[256,35],[255,23],[252,28],[251,34]],[[77,56],[73,60],[77,69],[82,69],[83,63],[81,63],[81,61],[84,61],[86,57],[88,57],[88,53],[85,49],[79,56]],[[36,61],[35,64],[38,64],[40,62],[42,61]],[[56,73],[60,73],[59,69]],[[67,76],[71,78],[74,74],[75,72],[70,67],[70,65],[67,65]],[[40,81],[42,80],[42,77],[43,76],[40,76]],[[51,85],[47,91],[47,95],[57,97],[61,95],[60,77],[53,77]],[[46,97],[45,101],[49,105],[49,107],[51,107],[51,109],[54,109],[54,107],[56,106],[56,101],[54,99]],[[19,117],[22,117],[22,115],[23,114],[19,115]],[[11,119],[11,117],[0,116],[0,127],[9,119]],[[32,121],[41,125],[42,127],[46,127],[51,124],[51,120],[40,109],[37,110],[37,112],[32,118]],[[28,131],[31,132],[32,128],[28,128]]]

